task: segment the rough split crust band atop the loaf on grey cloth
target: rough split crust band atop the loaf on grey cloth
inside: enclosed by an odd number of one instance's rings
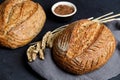
[[[89,46],[92,45],[92,43],[94,43],[94,41],[98,38],[99,34],[101,33],[102,27],[100,27],[99,23],[96,22],[88,22],[88,23],[79,25],[80,27],[76,25],[75,28],[76,30],[72,32],[72,36],[69,42],[70,43],[69,50],[67,53],[67,55],[70,58],[82,54],[82,52],[84,52]],[[85,25],[89,25],[89,26],[84,27]],[[82,32],[76,33],[79,32],[78,30]],[[76,51],[79,51],[79,53]]]

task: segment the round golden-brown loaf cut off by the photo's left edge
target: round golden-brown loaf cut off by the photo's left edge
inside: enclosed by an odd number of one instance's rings
[[[0,44],[18,48],[41,31],[46,20],[43,8],[31,0],[5,0],[0,5]]]

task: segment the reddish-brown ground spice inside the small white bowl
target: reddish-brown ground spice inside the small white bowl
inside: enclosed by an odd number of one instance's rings
[[[74,8],[68,5],[59,5],[55,8],[54,12],[59,15],[67,15],[74,12]]]

